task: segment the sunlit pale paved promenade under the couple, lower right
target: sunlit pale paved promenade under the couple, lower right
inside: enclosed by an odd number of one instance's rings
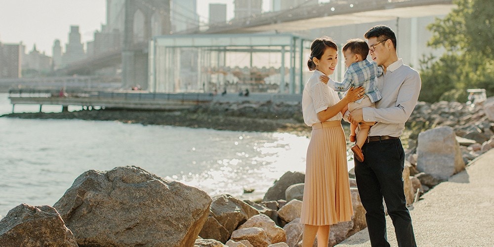
[[[466,170],[440,183],[413,204],[410,211],[417,246],[487,247],[494,243],[494,149],[471,162]],[[388,241],[398,246],[391,218],[386,217]],[[337,247],[369,247],[367,228]]]

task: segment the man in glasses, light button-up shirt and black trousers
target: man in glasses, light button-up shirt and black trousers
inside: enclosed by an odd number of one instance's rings
[[[376,102],[376,107],[355,110],[348,117],[353,124],[377,122],[371,127],[367,142],[362,147],[365,160],[355,160],[357,186],[362,205],[367,211],[371,246],[390,246],[386,237],[384,198],[395,227],[398,246],[413,247],[416,243],[412,218],[403,192],[405,152],[399,137],[417,103],[420,76],[398,58],[396,36],[389,27],[372,27],[365,38],[372,60],[382,66],[384,73],[377,79],[382,99]]]

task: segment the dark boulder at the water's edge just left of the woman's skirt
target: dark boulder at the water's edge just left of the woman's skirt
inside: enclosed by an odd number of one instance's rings
[[[291,172],[287,171],[283,176],[275,181],[274,185],[268,189],[262,201],[278,201],[286,200],[285,191],[290,185],[305,182],[305,174],[302,172]]]

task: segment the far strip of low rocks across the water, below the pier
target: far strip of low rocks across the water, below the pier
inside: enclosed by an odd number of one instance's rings
[[[119,121],[128,124],[170,125],[233,131],[290,132],[309,135],[301,106],[291,104],[211,103],[178,111],[82,110],[63,113],[11,113],[1,117],[21,119],[80,119]]]

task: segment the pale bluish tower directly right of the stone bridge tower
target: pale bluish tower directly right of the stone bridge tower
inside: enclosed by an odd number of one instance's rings
[[[170,21],[172,32],[199,28],[197,0],[170,1]]]

